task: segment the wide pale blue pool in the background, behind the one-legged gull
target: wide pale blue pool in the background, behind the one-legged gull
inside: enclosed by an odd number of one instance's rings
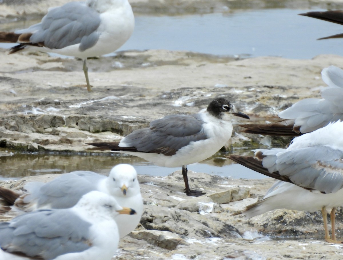
[[[316,39],[342,33],[343,26],[298,15],[307,11],[313,10],[263,9],[178,16],[136,15],[133,35],[119,50],[168,49],[292,59],[310,59],[319,54],[341,55],[342,39]],[[0,30],[25,28],[37,22],[0,24]],[[13,44],[0,44],[0,47],[10,46]]]

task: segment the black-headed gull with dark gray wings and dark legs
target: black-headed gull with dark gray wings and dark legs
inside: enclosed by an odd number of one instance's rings
[[[186,194],[200,196],[190,190],[187,165],[205,160],[221,149],[231,138],[233,116],[249,119],[224,98],[217,98],[192,115],[167,115],[150,122],[150,127],[133,131],[120,142],[87,143],[90,150],[111,150],[143,158],[157,166],[181,167]]]

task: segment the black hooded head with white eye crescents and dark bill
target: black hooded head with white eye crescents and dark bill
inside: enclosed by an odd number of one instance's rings
[[[211,101],[207,107],[207,111],[211,115],[223,120],[230,120],[232,115],[250,119],[248,115],[239,112],[230,101],[223,98],[217,98]]]

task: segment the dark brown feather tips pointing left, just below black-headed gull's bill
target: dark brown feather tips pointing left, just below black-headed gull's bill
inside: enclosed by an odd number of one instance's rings
[[[239,126],[245,128],[242,132],[249,134],[294,137],[302,135],[299,127],[294,125],[294,120],[283,120],[269,124],[244,124]]]

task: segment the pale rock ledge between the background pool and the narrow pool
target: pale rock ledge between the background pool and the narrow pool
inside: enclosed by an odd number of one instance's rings
[[[156,118],[196,113],[217,97],[232,101],[250,122],[275,121],[278,111],[299,99],[319,98],[325,86],[322,68],[343,63],[335,55],[237,60],[168,50],[129,51],[90,60],[95,69],[90,72],[93,91],[88,93],[80,86],[84,76],[78,60],[42,53],[7,55],[5,50],[0,50],[0,58],[6,60],[0,64],[0,147],[42,152],[84,151],[86,139],[119,139]],[[124,67],[114,68],[117,62]],[[234,122],[237,133],[239,123]],[[226,147],[256,147],[261,139],[234,135]],[[284,146],[289,140],[272,138],[270,143]]]

